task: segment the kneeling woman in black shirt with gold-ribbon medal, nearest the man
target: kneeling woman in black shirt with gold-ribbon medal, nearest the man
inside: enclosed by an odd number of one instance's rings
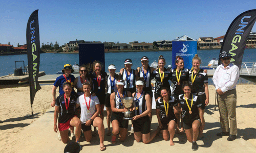
[[[179,95],[179,103],[182,107],[183,125],[186,132],[187,140],[192,142],[192,150],[197,150],[197,137],[199,127],[203,120],[202,104],[198,96],[191,94],[192,85],[185,81],[182,85],[184,94]]]

